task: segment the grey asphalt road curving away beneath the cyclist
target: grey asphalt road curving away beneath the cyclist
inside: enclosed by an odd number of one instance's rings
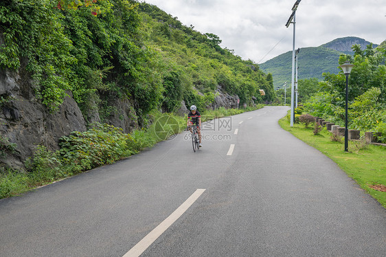
[[[286,110],[207,122],[196,153],[185,132],[0,200],[0,256],[124,256],[144,241],[141,256],[385,256],[385,208],[283,131]]]

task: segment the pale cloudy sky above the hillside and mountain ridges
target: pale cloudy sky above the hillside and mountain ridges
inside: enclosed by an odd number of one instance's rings
[[[183,25],[213,33],[222,47],[264,63],[292,51],[293,25],[285,24],[295,0],[145,0]],[[303,0],[296,12],[295,47],[317,47],[335,38],[386,40],[385,0]]]

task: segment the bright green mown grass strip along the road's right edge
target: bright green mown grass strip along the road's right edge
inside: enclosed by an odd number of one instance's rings
[[[345,152],[344,138],[342,142],[332,142],[330,138],[332,134],[326,129],[323,129],[319,135],[314,135],[313,126],[305,129],[303,124],[294,124],[291,127],[286,118],[282,118],[279,124],[284,130],[330,157],[363,190],[386,208],[386,192],[370,187],[373,185],[386,186],[386,147],[349,141],[348,152]]]

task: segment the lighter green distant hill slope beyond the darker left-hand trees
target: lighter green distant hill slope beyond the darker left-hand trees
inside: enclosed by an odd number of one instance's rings
[[[271,102],[275,99],[272,78],[259,70],[251,60],[242,60],[232,50],[219,46],[220,38],[215,34],[201,34],[193,26],[186,27],[177,17],[166,14],[155,5],[141,3],[139,10],[148,31],[147,44],[157,49],[169,70],[174,70],[185,82],[184,100],[189,105],[196,98],[190,85],[202,93],[213,93],[220,86],[227,93],[240,97],[240,104]],[[168,75],[168,78],[170,75]],[[266,95],[260,98],[258,89]]]

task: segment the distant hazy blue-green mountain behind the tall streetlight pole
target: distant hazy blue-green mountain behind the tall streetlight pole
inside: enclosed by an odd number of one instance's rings
[[[370,44],[363,38],[348,36],[337,38],[319,47],[300,48],[298,54],[298,78],[318,78],[323,80],[323,72],[339,72],[339,56],[341,54],[353,54],[351,46],[361,45],[365,49]],[[373,44],[373,47],[378,45]],[[273,86],[280,88],[287,82],[291,85],[292,51],[280,54],[271,60],[259,65],[260,69],[273,76]]]

